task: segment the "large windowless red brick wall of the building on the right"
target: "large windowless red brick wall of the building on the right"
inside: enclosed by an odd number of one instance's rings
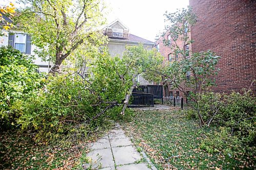
[[[222,58],[215,91],[241,91],[256,80],[256,1],[189,0],[198,16],[191,28],[194,52],[212,50]],[[251,89],[256,92],[256,82]]]

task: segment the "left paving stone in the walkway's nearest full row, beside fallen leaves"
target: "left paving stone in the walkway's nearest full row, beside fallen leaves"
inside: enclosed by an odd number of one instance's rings
[[[87,157],[92,158],[92,168],[115,166],[111,148],[92,151]]]

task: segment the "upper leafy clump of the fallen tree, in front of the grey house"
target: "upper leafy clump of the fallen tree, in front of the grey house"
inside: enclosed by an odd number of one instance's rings
[[[108,53],[98,55],[91,64],[91,87],[104,101],[121,103],[137,75],[149,81],[159,80],[159,75],[153,76],[151,69],[160,67],[162,60],[156,50],[147,51],[143,44],[126,46],[122,58]]]

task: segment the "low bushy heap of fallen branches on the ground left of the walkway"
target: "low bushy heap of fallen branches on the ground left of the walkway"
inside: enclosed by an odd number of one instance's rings
[[[47,88],[34,91],[26,101],[15,103],[20,114],[17,124],[24,130],[34,130],[35,140],[65,144],[104,129],[108,120],[104,116],[93,119],[104,104],[97,104],[97,96],[88,90],[88,83],[79,76],[48,77]],[[69,140],[72,139],[72,140]]]

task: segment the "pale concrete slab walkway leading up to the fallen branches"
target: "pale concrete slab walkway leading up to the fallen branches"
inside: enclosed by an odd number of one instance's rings
[[[84,169],[155,170],[144,152],[138,152],[130,138],[126,137],[120,125],[107,135],[91,144]]]

